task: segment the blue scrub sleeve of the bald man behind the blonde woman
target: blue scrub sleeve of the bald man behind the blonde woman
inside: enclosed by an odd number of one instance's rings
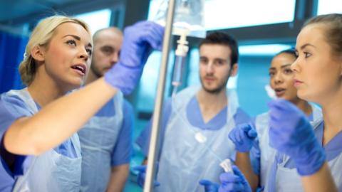
[[[133,107],[126,100],[123,102],[123,123],[118,140],[112,152],[112,166],[129,164],[133,142]]]

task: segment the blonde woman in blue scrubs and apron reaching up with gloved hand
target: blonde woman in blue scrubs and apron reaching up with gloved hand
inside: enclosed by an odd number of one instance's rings
[[[66,95],[86,79],[90,31],[66,16],[38,23],[19,66],[27,87],[0,95],[0,191],[80,191],[76,132],[118,91],[133,90],[150,51],[161,46],[163,28],[140,22],[125,36],[115,67]]]

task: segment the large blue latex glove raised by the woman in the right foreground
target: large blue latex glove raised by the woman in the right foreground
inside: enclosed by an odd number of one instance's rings
[[[314,129],[294,104],[286,100],[269,102],[269,144],[296,163],[301,176],[316,173],[326,159]]]

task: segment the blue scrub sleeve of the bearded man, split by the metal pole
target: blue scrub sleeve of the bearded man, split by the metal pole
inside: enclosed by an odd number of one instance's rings
[[[172,111],[172,106],[171,106],[171,98],[167,99],[164,102],[164,107],[162,110],[162,126],[160,128],[160,147],[157,156],[160,156],[160,149],[162,149],[162,143],[164,141],[164,135],[165,135],[165,129],[167,126],[167,122],[170,119],[170,114]],[[140,150],[142,151],[142,154],[145,156],[148,155],[148,148],[150,146],[150,135],[151,135],[151,129],[152,129],[152,120],[153,117],[150,119],[150,122],[148,122],[147,126],[145,129],[141,132],[140,136],[138,139],[136,139],[135,143],[140,146]]]

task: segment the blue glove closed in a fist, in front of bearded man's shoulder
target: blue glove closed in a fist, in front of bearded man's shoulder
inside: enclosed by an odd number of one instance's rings
[[[252,124],[238,124],[229,132],[228,137],[235,144],[237,151],[247,152],[252,149],[254,139],[257,138],[257,132]]]

